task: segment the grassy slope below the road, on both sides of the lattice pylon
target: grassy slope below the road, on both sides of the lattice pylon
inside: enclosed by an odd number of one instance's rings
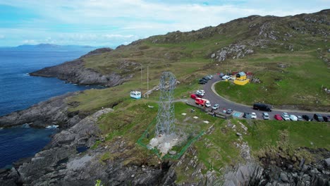
[[[154,106],[150,109],[149,106]],[[238,162],[242,162],[240,158],[240,149],[236,144],[247,142],[251,147],[251,154],[254,156],[264,156],[265,151],[282,147],[286,151],[298,158],[308,156],[306,159],[312,161],[312,156],[305,151],[297,150],[299,147],[325,148],[330,150],[329,140],[330,132],[329,123],[317,122],[283,122],[277,120],[222,120],[214,118],[196,109],[195,113],[190,113],[193,107],[177,102],[176,108],[176,130],[184,131],[187,134],[207,131],[213,128],[212,132],[205,132],[192,147],[197,151],[198,162],[204,164],[202,172],[214,170],[221,173],[221,168],[225,166],[233,166]],[[182,116],[181,113],[187,113]],[[140,147],[136,144],[138,138],[146,130],[147,126],[157,114],[157,103],[152,99],[127,100],[114,107],[113,113],[108,113],[99,119],[99,127],[105,138],[104,142],[98,143],[98,146],[110,146],[125,141],[130,147],[129,151],[123,154],[104,154],[101,160],[122,159],[125,157],[124,164],[157,166],[157,156],[151,151]],[[146,117],[148,116],[148,117]],[[193,118],[198,116],[198,119]],[[203,123],[208,120],[210,123]],[[236,125],[233,130],[227,125],[231,123]],[[243,128],[239,123],[247,126],[247,134],[243,135],[243,140],[236,136],[236,132],[244,134]],[[286,139],[283,139],[286,134]],[[151,137],[153,133],[150,133]],[[120,138],[118,138],[120,137]],[[120,143],[119,143],[120,144]],[[285,151],[285,152],[286,152]],[[280,152],[286,155],[284,152]],[[283,156],[284,156],[283,155]],[[186,154],[186,156],[193,156]],[[277,156],[277,155],[276,155]],[[293,155],[292,155],[293,156]],[[184,164],[176,168],[178,173],[177,182],[189,182],[190,171],[185,171],[188,165]]]

